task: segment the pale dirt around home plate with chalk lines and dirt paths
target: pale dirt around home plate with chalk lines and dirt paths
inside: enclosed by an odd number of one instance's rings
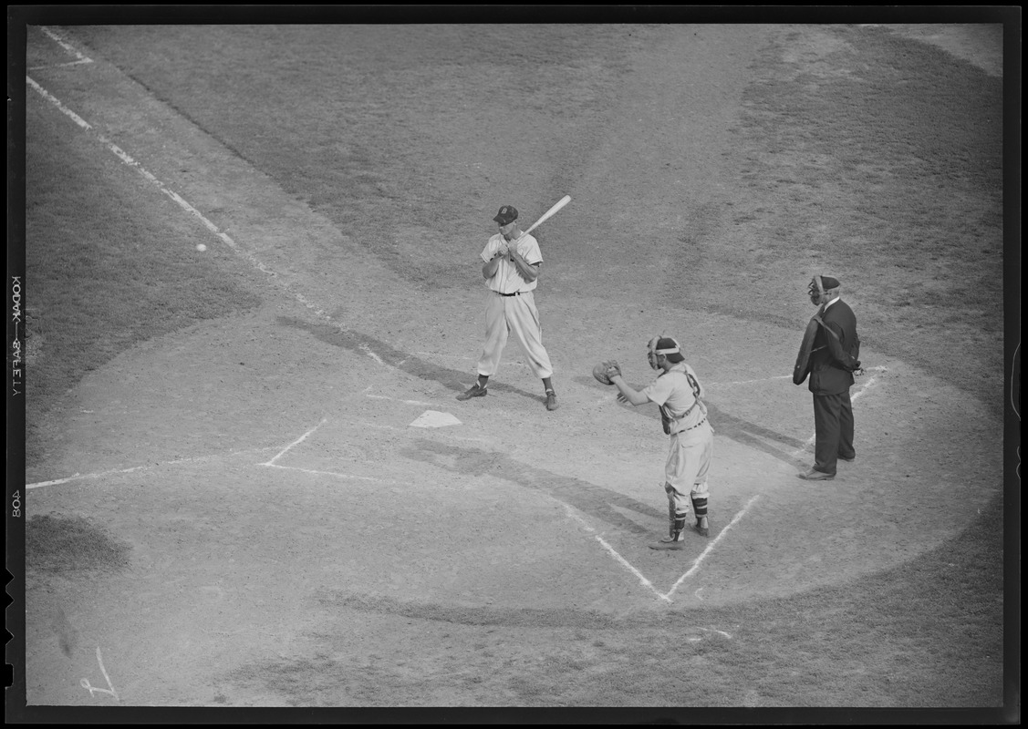
[[[778,262],[795,266],[792,280],[755,283],[775,290],[773,320],[704,306],[734,275],[701,255],[730,228],[733,120],[751,65],[788,32],[697,27],[682,43],[647,29],[661,43],[645,53],[626,41],[631,80],[560,147],[568,163],[588,160],[574,180],[559,163],[519,165],[520,146],[543,144],[523,120],[489,127],[515,141],[492,170],[475,166],[489,140],[426,152],[463,154],[443,171],[464,165],[473,188],[468,209],[438,210],[443,235],[462,237],[444,245],[424,216],[371,239],[387,227],[371,202],[305,198],[212,133],[187,99],[169,99],[161,73],[128,68],[145,39],[69,31],[87,70],[36,76],[93,128],[30,91],[47,127],[37,133],[79,135],[98,157],[113,140],[134,155],[224,234],[195,222],[196,240],[221,246],[218,265],[258,273],[264,304],[122,352],[47,414],[30,515],[84,517],[132,558],[116,571],[30,574],[29,703],[108,705],[95,689],[113,685],[127,705],[548,705],[517,677],[567,656],[602,675],[619,641],[668,621],[690,643],[729,641],[739,606],[856,580],[957,535],[968,485],[981,501],[1001,488],[1001,459],[985,457],[1002,442],[994,402],[869,338],[853,388],[857,461],[809,484],[796,474],[812,457],[810,396],[788,368],[820,259]],[[828,53],[827,38],[810,32],[798,52]],[[928,40],[996,73],[985,43]],[[30,66],[65,52],[30,37]],[[473,105],[458,112],[473,121]],[[122,168],[131,183],[103,184],[137,185]],[[362,184],[410,193],[386,175]],[[571,205],[540,236],[538,298],[560,409],[545,411],[513,344],[489,396],[457,402],[481,345],[483,212],[512,202],[538,216],[563,193]],[[145,215],[189,215],[152,199]],[[642,253],[653,240],[663,253]],[[694,254],[683,277],[708,272],[703,291],[661,299]],[[717,432],[711,538],[693,535],[681,553],[648,548],[666,523],[655,409],[618,405],[589,374],[616,357],[645,384],[645,341],[665,330],[688,343]],[[513,678],[484,691],[495,672]],[[759,703],[755,691],[739,688],[735,705]]]

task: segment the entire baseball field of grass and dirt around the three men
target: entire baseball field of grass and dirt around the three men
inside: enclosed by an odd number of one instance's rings
[[[29,25],[8,700],[1019,721],[1003,41]],[[563,195],[534,231],[559,409],[513,339],[457,401],[492,216]],[[791,379],[814,274],[842,282],[866,368],[857,457],[827,483],[797,477],[813,412]],[[657,408],[590,374],[648,384],[659,334],[715,431],[710,536],[677,552],[649,549]]]

